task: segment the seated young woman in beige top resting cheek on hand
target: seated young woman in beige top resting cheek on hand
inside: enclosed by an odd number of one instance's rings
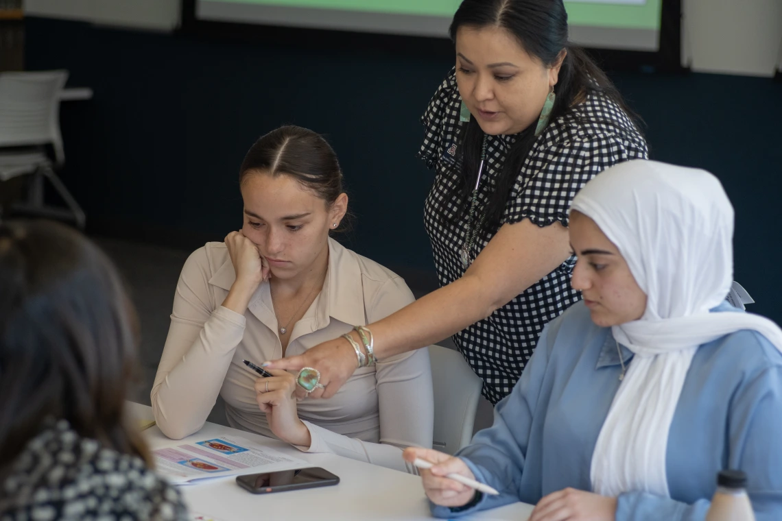
[[[329,237],[347,210],[342,173],[318,134],[282,127],[242,163],[242,230],[185,262],[152,387],[160,430],[199,430],[217,394],[228,423],[303,451],[414,472],[401,449],[431,447],[425,349],[358,369],[333,398],[296,401],[296,376],[257,365],[389,316],[413,302],[400,277]]]

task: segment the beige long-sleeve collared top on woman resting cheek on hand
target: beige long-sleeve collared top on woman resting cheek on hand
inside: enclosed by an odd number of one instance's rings
[[[404,280],[377,262],[331,239],[328,250],[323,288],[293,327],[286,355],[300,355],[414,300]],[[245,314],[239,315],[221,305],[234,280],[224,243],[207,243],[182,269],[152,386],[155,419],[168,437],[199,430],[218,394],[230,426],[274,437],[256,403],[258,375],[242,363],[282,357],[269,284],[258,287]],[[414,473],[401,449],[432,446],[429,353],[419,349],[357,369],[332,398],[300,401],[298,412],[312,437],[310,447],[302,450]]]

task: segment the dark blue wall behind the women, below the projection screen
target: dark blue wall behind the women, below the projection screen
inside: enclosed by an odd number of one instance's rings
[[[82,23],[27,22],[27,67],[66,68],[95,90],[63,105],[63,177],[92,230],[195,247],[240,226],[237,169],[282,123],[328,135],[357,216],[350,245],[432,273],[415,158],[418,116],[452,65],[442,53],[199,40]],[[782,83],[708,74],[615,73],[647,123],[653,159],[699,166],[737,210],[736,278],[782,322]]]

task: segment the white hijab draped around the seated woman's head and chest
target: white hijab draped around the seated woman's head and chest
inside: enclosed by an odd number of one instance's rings
[[[636,160],[609,168],[572,209],[597,223],[647,295],[644,316],[612,327],[634,356],[592,455],[597,494],[669,497],[668,434],[698,346],[755,330],[782,350],[782,330],[749,313],[710,313],[733,280],[734,211],[705,170]]]

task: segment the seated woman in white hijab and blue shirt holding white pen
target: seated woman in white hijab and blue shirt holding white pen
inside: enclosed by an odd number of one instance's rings
[[[725,302],[733,228],[703,170],[630,161],[591,180],[570,227],[583,302],[457,458],[405,452],[438,463],[421,473],[432,512],[525,501],[530,521],[695,521],[719,470],[741,469],[756,519],[782,519],[782,330]]]

